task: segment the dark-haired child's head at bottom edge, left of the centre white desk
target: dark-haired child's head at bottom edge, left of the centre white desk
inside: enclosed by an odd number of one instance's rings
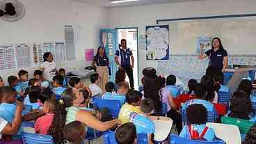
[[[135,144],[136,138],[136,127],[131,122],[121,125],[115,131],[115,140],[118,142],[118,144]]]

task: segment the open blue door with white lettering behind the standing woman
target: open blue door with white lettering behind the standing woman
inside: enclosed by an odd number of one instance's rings
[[[115,83],[115,72],[117,71],[117,66],[115,65],[115,51],[118,49],[118,35],[115,29],[102,29],[99,33],[100,35],[100,45],[102,45],[106,54],[109,57],[111,76],[110,80]]]

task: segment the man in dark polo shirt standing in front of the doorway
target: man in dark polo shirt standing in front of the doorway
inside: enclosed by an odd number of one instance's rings
[[[119,61],[118,61],[119,58]],[[119,66],[120,70],[124,70],[129,77],[129,83],[132,89],[134,89],[134,56],[131,49],[127,48],[127,41],[121,40],[121,47],[115,51],[115,63]]]

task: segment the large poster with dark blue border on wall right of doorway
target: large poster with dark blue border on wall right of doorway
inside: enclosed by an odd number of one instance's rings
[[[169,59],[169,26],[146,26],[147,60]]]

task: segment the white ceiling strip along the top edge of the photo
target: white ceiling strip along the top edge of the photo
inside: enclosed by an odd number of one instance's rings
[[[104,8],[117,8],[117,7],[128,7],[128,6],[145,6],[152,4],[161,4],[161,3],[178,3],[186,1],[205,1],[205,0],[139,0],[131,1],[125,3],[111,3],[113,0],[73,0],[80,1],[83,3],[90,3],[97,6],[102,6]]]

